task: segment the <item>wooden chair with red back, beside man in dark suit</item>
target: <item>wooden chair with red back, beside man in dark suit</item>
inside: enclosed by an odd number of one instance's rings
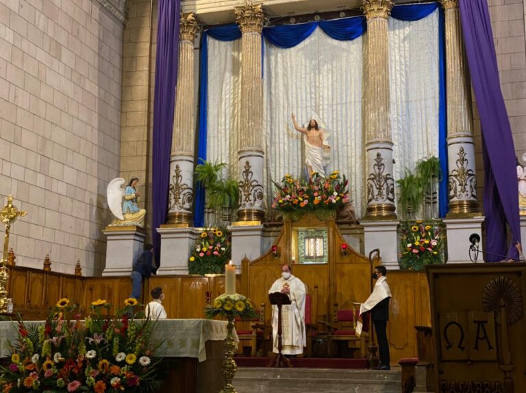
[[[356,323],[360,315],[360,306],[358,303],[353,303],[352,309],[338,308],[338,303],[334,304],[334,320],[331,325],[331,332],[327,336],[329,338],[329,347],[331,349],[331,356],[338,355],[338,342],[347,342],[347,348],[353,351],[360,350],[360,357],[366,357],[367,341],[369,338],[369,313],[362,316],[362,334],[360,337],[356,336]]]

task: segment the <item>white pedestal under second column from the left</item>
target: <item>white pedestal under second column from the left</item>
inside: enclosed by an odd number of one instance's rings
[[[262,225],[229,226],[232,234],[232,263],[241,268],[241,260],[247,256],[255,260],[262,256],[265,242]],[[240,272],[240,270],[239,270]]]

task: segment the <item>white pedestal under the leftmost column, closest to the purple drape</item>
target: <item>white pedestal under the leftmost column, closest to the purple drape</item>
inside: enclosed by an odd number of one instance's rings
[[[188,274],[188,258],[199,236],[195,228],[158,228],[161,235],[161,263],[158,275]]]

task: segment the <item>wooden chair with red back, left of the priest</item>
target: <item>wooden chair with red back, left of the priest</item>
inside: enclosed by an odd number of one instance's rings
[[[265,344],[268,341],[268,331],[270,327],[265,325],[265,303],[262,303],[259,310],[255,310],[258,316],[242,321],[236,318],[236,333],[238,334],[239,344],[237,354],[245,355],[250,349],[250,356],[263,356],[265,353]],[[250,329],[247,329],[249,325]]]

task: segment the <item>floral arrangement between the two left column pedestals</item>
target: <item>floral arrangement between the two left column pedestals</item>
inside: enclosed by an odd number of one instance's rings
[[[188,259],[188,273],[225,273],[225,264],[231,258],[231,234],[220,228],[205,228],[195,242]]]

